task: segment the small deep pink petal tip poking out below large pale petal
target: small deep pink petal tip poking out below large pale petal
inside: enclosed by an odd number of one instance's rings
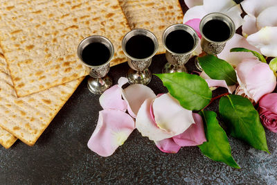
[[[172,138],[163,139],[161,141],[154,141],[156,146],[162,151],[166,153],[176,154],[179,152],[181,146],[177,145]]]

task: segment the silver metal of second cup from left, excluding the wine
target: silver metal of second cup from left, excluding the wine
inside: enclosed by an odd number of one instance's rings
[[[136,35],[144,35],[152,39],[152,42],[154,43],[154,51],[148,58],[143,58],[143,59],[134,58],[131,55],[129,55],[129,53],[127,53],[126,44],[130,38]],[[125,55],[127,56],[127,62],[129,64],[129,67],[131,68],[127,73],[129,84],[148,85],[148,83],[152,79],[152,73],[148,69],[148,67],[150,67],[152,58],[157,53],[158,47],[159,47],[159,44],[158,44],[157,37],[149,30],[134,29],[129,31],[129,33],[125,35],[125,37],[122,40],[122,49]]]

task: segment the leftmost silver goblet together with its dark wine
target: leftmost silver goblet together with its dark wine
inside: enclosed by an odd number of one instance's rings
[[[98,50],[99,48],[94,48],[94,51],[93,49],[89,51],[89,59],[84,60],[84,49],[90,44],[98,44],[97,46],[101,46],[100,48],[106,48],[107,52],[102,53]],[[107,76],[107,73],[109,72],[109,62],[114,56],[114,46],[109,39],[100,35],[87,37],[80,42],[77,55],[82,63],[89,67],[90,77],[87,81],[89,91],[93,94],[102,94],[106,89],[109,89],[112,85],[112,80]],[[98,62],[98,59],[101,57],[105,57],[107,60],[105,62]]]

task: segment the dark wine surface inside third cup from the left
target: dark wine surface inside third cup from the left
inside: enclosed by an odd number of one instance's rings
[[[193,36],[185,30],[174,30],[166,37],[166,46],[174,53],[187,53],[194,44]]]

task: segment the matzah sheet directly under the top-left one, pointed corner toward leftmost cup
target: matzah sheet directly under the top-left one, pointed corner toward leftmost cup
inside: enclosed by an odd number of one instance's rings
[[[0,50],[0,126],[33,146],[83,78],[17,98]]]

